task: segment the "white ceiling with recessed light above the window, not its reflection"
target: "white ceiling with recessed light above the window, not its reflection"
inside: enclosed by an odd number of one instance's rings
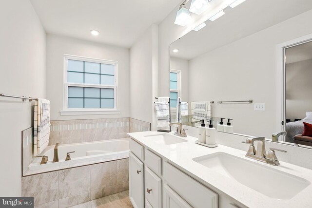
[[[181,0],[30,0],[46,33],[130,48]],[[90,30],[100,35],[94,37]]]

